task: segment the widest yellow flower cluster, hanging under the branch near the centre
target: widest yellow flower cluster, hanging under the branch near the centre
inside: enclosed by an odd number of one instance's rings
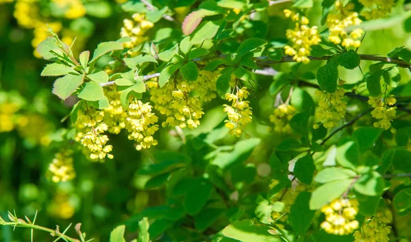
[[[200,71],[195,82],[169,80],[169,84],[159,88],[156,79],[146,82],[151,89],[151,101],[155,110],[166,115],[162,127],[197,128],[203,116],[203,102],[216,97],[216,72]]]

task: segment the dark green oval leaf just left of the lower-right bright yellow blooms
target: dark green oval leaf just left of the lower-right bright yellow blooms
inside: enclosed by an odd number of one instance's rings
[[[290,215],[288,215],[288,222],[301,236],[306,235],[315,215],[315,211],[310,210],[310,197],[311,193],[301,191],[295,198],[295,202],[290,208]]]

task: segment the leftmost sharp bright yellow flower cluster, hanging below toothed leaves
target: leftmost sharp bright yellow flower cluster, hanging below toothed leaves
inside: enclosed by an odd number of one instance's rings
[[[90,114],[92,113],[92,114]],[[106,145],[108,136],[103,133],[108,126],[103,123],[104,112],[88,110],[88,114],[79,111],[75,123],[77,132],[76,141],[87,148],[91,160],[103,160],[106,156],[113,158],[112,145]]]

